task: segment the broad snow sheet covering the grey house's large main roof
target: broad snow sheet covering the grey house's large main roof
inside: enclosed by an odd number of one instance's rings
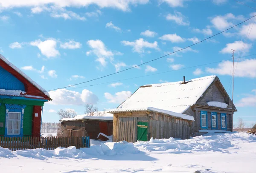
[[[207,76],[180,82],[168,82],[141,86],[118,108],[133,109],[154,107],[166,111],[183,113],[212,84],[216,76]]]

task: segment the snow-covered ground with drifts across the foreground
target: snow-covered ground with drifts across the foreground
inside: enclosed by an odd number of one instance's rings
[[[5,173],[255,173],[256,136],[208,133],[192,139],[106,142],[90,148],[0,148]],[[208,170],[207,170],[208,169]]]

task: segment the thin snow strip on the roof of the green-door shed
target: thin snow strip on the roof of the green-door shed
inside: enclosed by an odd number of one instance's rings
[[[181,119],[187,119],[190,121],[194,121],[194,117],[182,113],[176,113],[172,111],[167,111],[163,109],[153,108],[153,107],[147,107],[147,108],[133,108],[133,109],[125,109],[125,108],[116,108],[108,111],[109,113],[121,113],[121,112],[132,112],[132,111],[154,111],[158,113],[164,113],[170,116],[175,116]]]

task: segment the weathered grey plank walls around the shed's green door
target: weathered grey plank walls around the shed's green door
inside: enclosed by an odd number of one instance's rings
[[[116,122],[115,122],[116,121]],[[189,139],[189,122],[184,119],[177,119],[172,116],[161,113],[151,113],[149,115],[136,113],[136,116],[119,116],[114,119],[113,132],[114,141],[137,142],[137,122],[148,122],[148,140],[153,137],[163,138],[181,138]]]

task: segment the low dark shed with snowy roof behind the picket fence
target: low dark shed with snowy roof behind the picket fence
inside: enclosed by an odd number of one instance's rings
[[[103,112],[103,111],[101,111]],[[77,115],[74,118],[61,119],[61,136],[89,136],[98,139],[99,133],[111,136],[113,133],[113,115],[104,116]]]

